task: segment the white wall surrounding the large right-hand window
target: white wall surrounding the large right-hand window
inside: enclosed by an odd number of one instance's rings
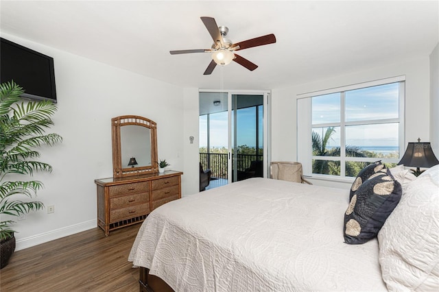
[[[316,69],[318,70],[318,68]],[[405,144],[429,141],[429,56],[381,66],[369,71],[353,72],[309,84],[272,89],[272,160],[296,161],[296,95],[399,75],[405,82]],[[348,188],[351,182],[333,183],[312,180],[313,184]]]

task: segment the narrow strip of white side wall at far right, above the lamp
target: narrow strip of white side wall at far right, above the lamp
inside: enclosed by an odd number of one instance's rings
[[[430,143],[439,159],[439,43],[430,54]]]

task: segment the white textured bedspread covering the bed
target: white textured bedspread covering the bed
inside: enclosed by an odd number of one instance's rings
[[[348,245],[348,191],[252,178],[154,210],[130,252],[175,291],[385,291],[378,243]]]

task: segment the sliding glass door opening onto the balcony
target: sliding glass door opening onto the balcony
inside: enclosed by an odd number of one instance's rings
[[[267,177],[268,97],[200,92],[200,162],[211,169],[213,186]]]

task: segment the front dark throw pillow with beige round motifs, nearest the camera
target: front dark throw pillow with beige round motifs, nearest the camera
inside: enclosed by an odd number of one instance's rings
[[[361,184],[344,214],[344,242],[361,244],[376,237],[402,193],[390,171],[372,175]]]

